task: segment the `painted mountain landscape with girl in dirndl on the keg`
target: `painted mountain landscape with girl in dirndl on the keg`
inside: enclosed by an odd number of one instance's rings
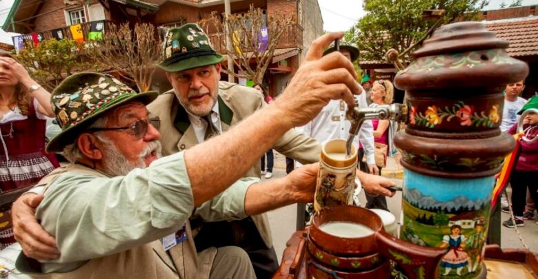
[[[446,249],[440,278],[479,274],[494,182],[493,176],[455,180],[404,170],[401,238]]]

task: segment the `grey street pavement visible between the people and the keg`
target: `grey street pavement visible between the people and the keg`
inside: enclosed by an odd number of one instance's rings
[[[273,169],[273,178],[279,178],[286,175],[286,161],[285,157],[278,152],[275,152],[275,167]],[[397,167],[392,158],[389,159],[388,165],[383,169],[382,175],[390,178],[401,186],[402,183],[402,174],[401,169]],[[264,178],[265,180],[265,178]],[[359,198],[361,204],[366,204],[366,198],[364,193],[361,193]],[[388,198],[388,208],[397,216],[401,214],[401,192]],[[509,214],[503,213],[501,219],[507,220]],[[281,260],[283,250],[286,248],[286,242],[290,236],[295,231],[296,220],[297,220],[297,205],[288,205],[287,207],[282,207],[273,211],[268,212],[269,223],[272,230],[272,239],[275,245],[275,250],[277,251],[277,256]],[[519,234],[523,238],[524,242],[531,251],[538,252],[538,225],[537,220],[526,220],[524,227],[518,227]],[[515,229],[509,229],[501,225],[501,247],[502,248],[523,248],[519,240],[519,236]]]

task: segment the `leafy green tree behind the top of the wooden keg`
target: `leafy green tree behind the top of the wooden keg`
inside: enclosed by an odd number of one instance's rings
[[[390,48],[403,52],[419,41],[436,20],[422,19],[424,10],[443,9],[444,23],[455,19],[470,20],[484,8],[488,0],[365,0],[366,16],[345,34],[346,41],[355,41],[361,60],[385,61]]]

